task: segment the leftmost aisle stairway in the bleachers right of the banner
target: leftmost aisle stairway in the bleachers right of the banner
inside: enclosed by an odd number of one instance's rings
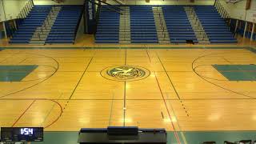
[[[119,21],[119,43],[130,43],[130,6],[121,6]]]

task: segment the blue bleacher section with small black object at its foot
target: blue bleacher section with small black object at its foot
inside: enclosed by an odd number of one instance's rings
[[[183,6],[162,6],[162,13],[171,43],[186,43],[186,40],[198,43]]]

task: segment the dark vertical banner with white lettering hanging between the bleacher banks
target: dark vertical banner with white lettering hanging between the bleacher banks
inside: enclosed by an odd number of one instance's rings
[[[86,34],[94,34],[96,28],[95,20],[95,0],[86,1],[85,3],[85,18],[86,18]]]

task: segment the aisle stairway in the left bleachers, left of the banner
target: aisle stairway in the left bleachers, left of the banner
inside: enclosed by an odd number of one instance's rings
[[[34,31],[34,34],[30,39],[31,45],[44,45],[46,43],[46,39],[50,33],[51,27],[54,26],[54,22],[58,17],[58,13],[61,9],[62,6],[52,6],[42,26],[39,26]]]

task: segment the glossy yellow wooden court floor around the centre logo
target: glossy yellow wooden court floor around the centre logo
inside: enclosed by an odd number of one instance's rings
[[[256,130],[256,83],[228,81],[214,64],[256,64],[245,49],[6,49],[0,65],[38,65],[0,82],[0,126],[139,126]],[[103,78],[109,66],[142,66],[134,82]]]

